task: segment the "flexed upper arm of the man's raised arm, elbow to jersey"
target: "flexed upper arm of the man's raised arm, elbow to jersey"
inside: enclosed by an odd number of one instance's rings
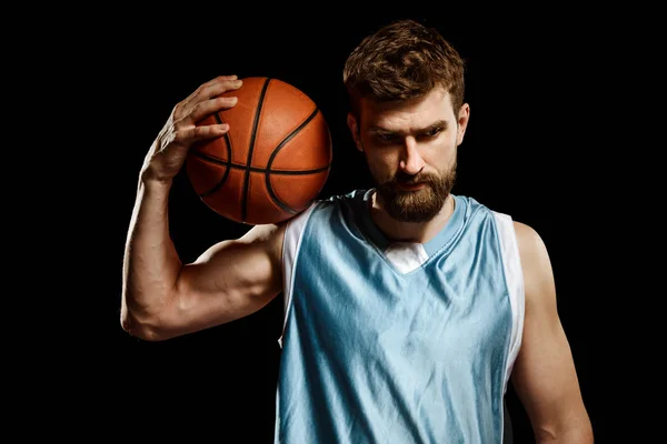
[[[227,323],[268,304],[282,286],[283,226],[257,225],[182,266],[166,324],[179,334]]]

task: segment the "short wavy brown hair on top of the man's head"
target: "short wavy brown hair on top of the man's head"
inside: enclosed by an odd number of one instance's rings
[[[398,20],[361,40],[345,63],[342,80],[357,118],[360,98],[414,99],[436,87],[449,92],[456,113],[464,104],[464,71],[458,51],[436,29]]]

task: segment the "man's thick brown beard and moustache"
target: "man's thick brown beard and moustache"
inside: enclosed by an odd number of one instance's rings
[[[399,171],[389,180],[378,184],[378,193],[391,218],[400,222],[428,222],[445,205],[456,182],[456,160],[450,169],[435,173],[406,174]],[[401,190],[401,184],[422,183],[415,191]]]

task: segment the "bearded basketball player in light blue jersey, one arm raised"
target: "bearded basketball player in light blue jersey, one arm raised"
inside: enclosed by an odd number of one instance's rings
[[[348,125],[377,186],[319,200],[183,264],[172,179],[236,77],[178,103],[141,169],[121,324],[162,341],[249,315],[283,292],[280,443],[500,443],[511,381],[537,442],[593,443],[552,271],[530,226],[452,193],[469,105],[434,30],[388,24],[349,56]]]

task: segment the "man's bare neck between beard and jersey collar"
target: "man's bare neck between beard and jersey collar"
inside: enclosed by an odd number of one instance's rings
[[[427,243],[447,224],[454,213],[455,199],[447,196],[442,209],[428,222],[401,222],[391,218],[382,206],[377,192],[371,198],[370,218],[378,229],[394,242]]]

